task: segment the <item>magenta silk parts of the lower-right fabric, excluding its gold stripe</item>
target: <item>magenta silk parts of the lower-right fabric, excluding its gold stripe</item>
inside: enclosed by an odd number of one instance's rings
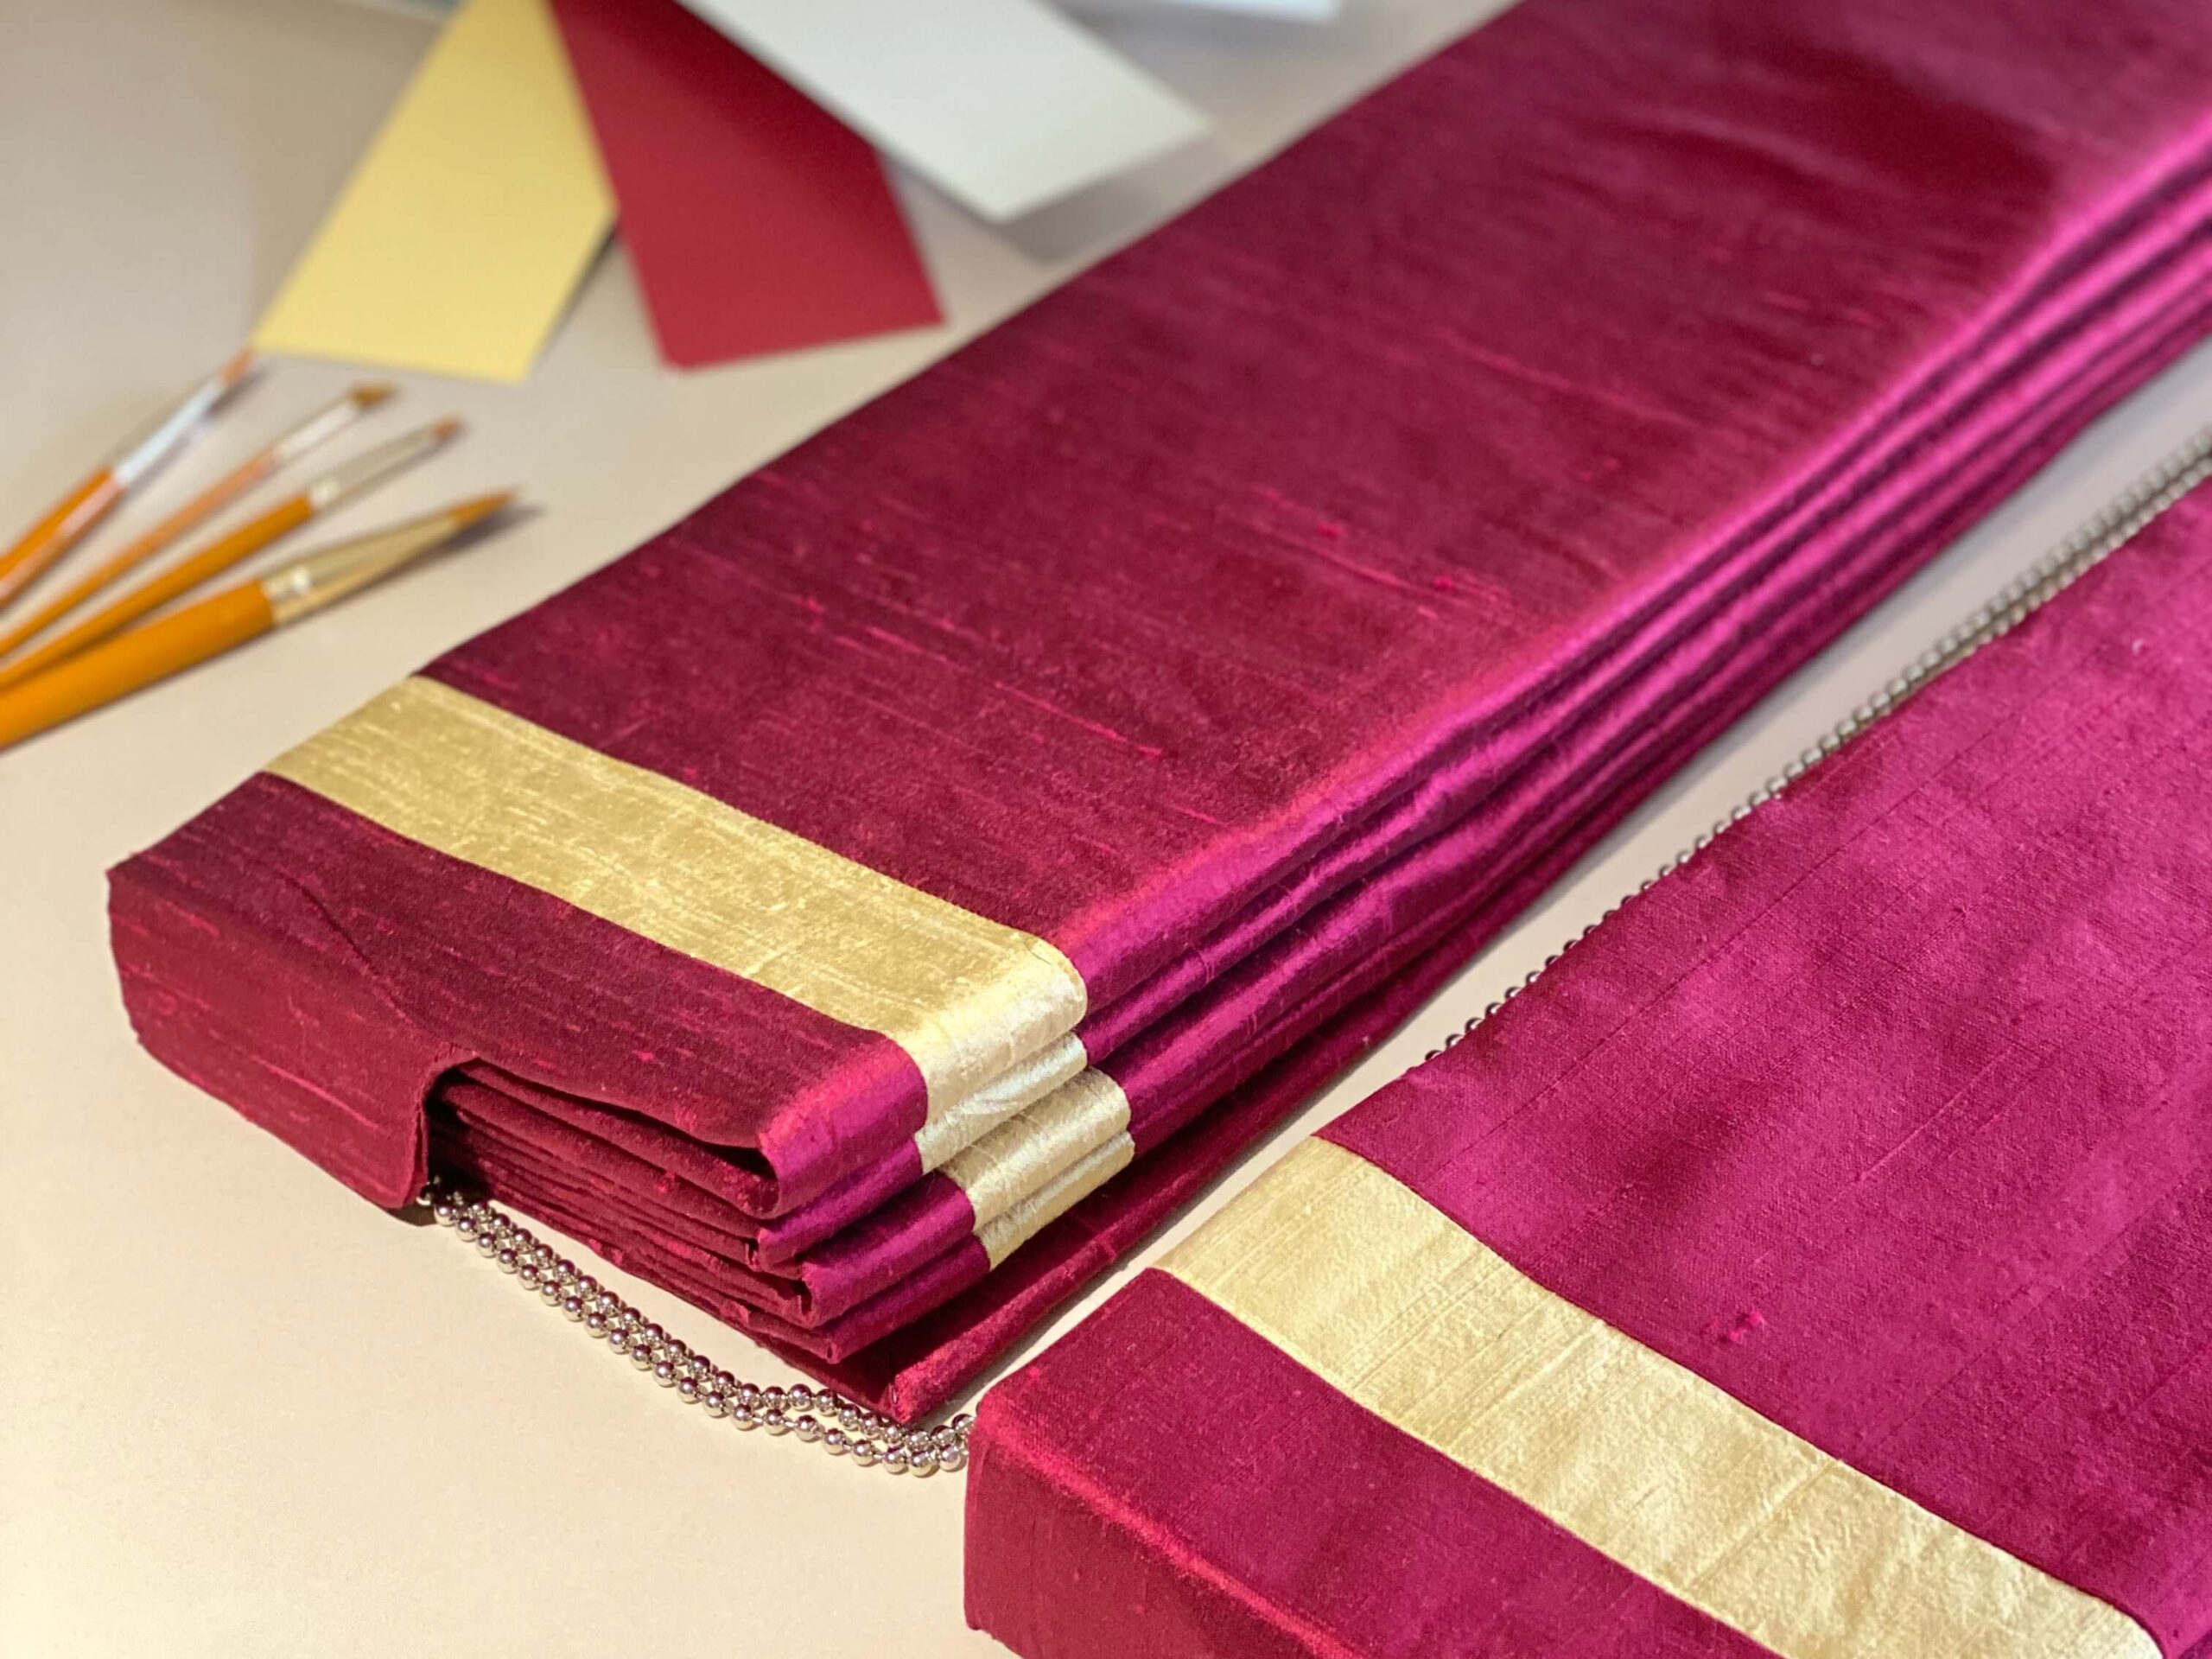
[[[2177,1659],[2212,1641],[2208,637],[2199,489],[1325,1130]],[[1164,1274],[978,1436],[969,1613],[1031,1659],[1741,1641]]]

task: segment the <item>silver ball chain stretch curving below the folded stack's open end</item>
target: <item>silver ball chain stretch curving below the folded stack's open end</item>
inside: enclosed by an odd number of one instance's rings
[[[524,1290],[535,1290],[549,1307],[582,1325],[606,1343],[608,1354],[622,1354],[639,1371],[675,1391],[686,1405],[701,1407],[710,1418],[726,1418],[739,1429],[768,1429],[772,1436],[796,1436],[821,1447],[832,1458],[852,1458],[860,1467],[891,1475],[953,1473],[967,1467],[969,1427],[964,1411],[936,1429],[902,1429],[880,1411],[794,1383],[787,1389],[763,1389],[739,1383],[703,1354],[648,1321],[615,1292],[564,1261],[553,1245],[529,1228],[471,1199],[442,1181],[422,1190],[438,1225],[451,1228],[500,1272],[509,1272]]]

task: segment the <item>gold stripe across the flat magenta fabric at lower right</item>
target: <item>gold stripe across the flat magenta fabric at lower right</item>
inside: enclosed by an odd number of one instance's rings
[[[2157,1659],[2128,1615],[1829,1458],[1305,1141],[1164,1263],[1329,1387],[1785,1659]]]

